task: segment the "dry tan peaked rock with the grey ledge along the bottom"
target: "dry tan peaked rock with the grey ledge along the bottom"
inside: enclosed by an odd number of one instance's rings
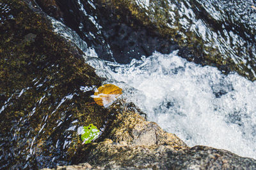
[[[77,166],[56,169],[256,169],[256,160],[227,150],[189,148],[134,111],[120,111],[109,129],[108,138],[84,146],[73,157]]]

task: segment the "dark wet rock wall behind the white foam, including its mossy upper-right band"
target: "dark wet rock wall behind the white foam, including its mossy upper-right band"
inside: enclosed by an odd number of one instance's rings
[[[101,59],[126,64],[154,51],[179,50],[189,61],[255,80],[252,1],[56,2],[65,14],[61,20]]]

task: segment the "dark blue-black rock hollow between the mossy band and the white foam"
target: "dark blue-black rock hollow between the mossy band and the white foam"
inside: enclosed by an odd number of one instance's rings
[[[142,55],[148,57],[155,51],[170,53],[180,49],[177,43],[163,38],[159,32],[148,29],[140,22],[124,22],[124,18],[118,18],[120,15],[115,11],[104,8],[97,1],[56,2],[64,13],[61,21],[95,49],[100,59],[126,64],[134,58],[141,59]]]

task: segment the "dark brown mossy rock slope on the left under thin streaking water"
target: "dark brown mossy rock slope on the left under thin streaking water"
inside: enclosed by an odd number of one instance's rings
[[[83,124],[102,127],[108,110],[93,103],[102,82],[77,48],[24,1],[1,1],[0,165],[40,169],[68,164]]]

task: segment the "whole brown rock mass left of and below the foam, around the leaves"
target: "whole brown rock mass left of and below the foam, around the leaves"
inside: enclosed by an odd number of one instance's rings
[[[29,4],[0,3],[0,169],[256,169],[226,150],[189,148],[131,103],[94,104],[102,78]],[[104,130],[82,145],[77,127],[92,123]]]

